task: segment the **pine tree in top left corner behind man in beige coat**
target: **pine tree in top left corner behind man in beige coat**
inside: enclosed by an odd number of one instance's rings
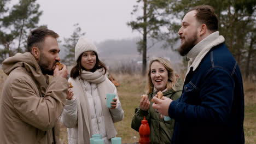
[[[11,9],[5,7],[7,0],[0,2],[0,61],[13,56],[16,52],[24,52],[27,34],[37,27],[42,11],[36,0],[20,0]]]

